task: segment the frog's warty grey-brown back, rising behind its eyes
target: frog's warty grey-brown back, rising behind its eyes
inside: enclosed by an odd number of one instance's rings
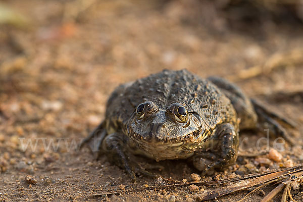
[[[152,100],[160,109],[172,103],[182,104],[211,129],[223,122],[236,124],[230,100],[210,81],[187,70],[164,70],[120,85],[108,100],[106,119],[126,124],[135,108],[146,100]]]

